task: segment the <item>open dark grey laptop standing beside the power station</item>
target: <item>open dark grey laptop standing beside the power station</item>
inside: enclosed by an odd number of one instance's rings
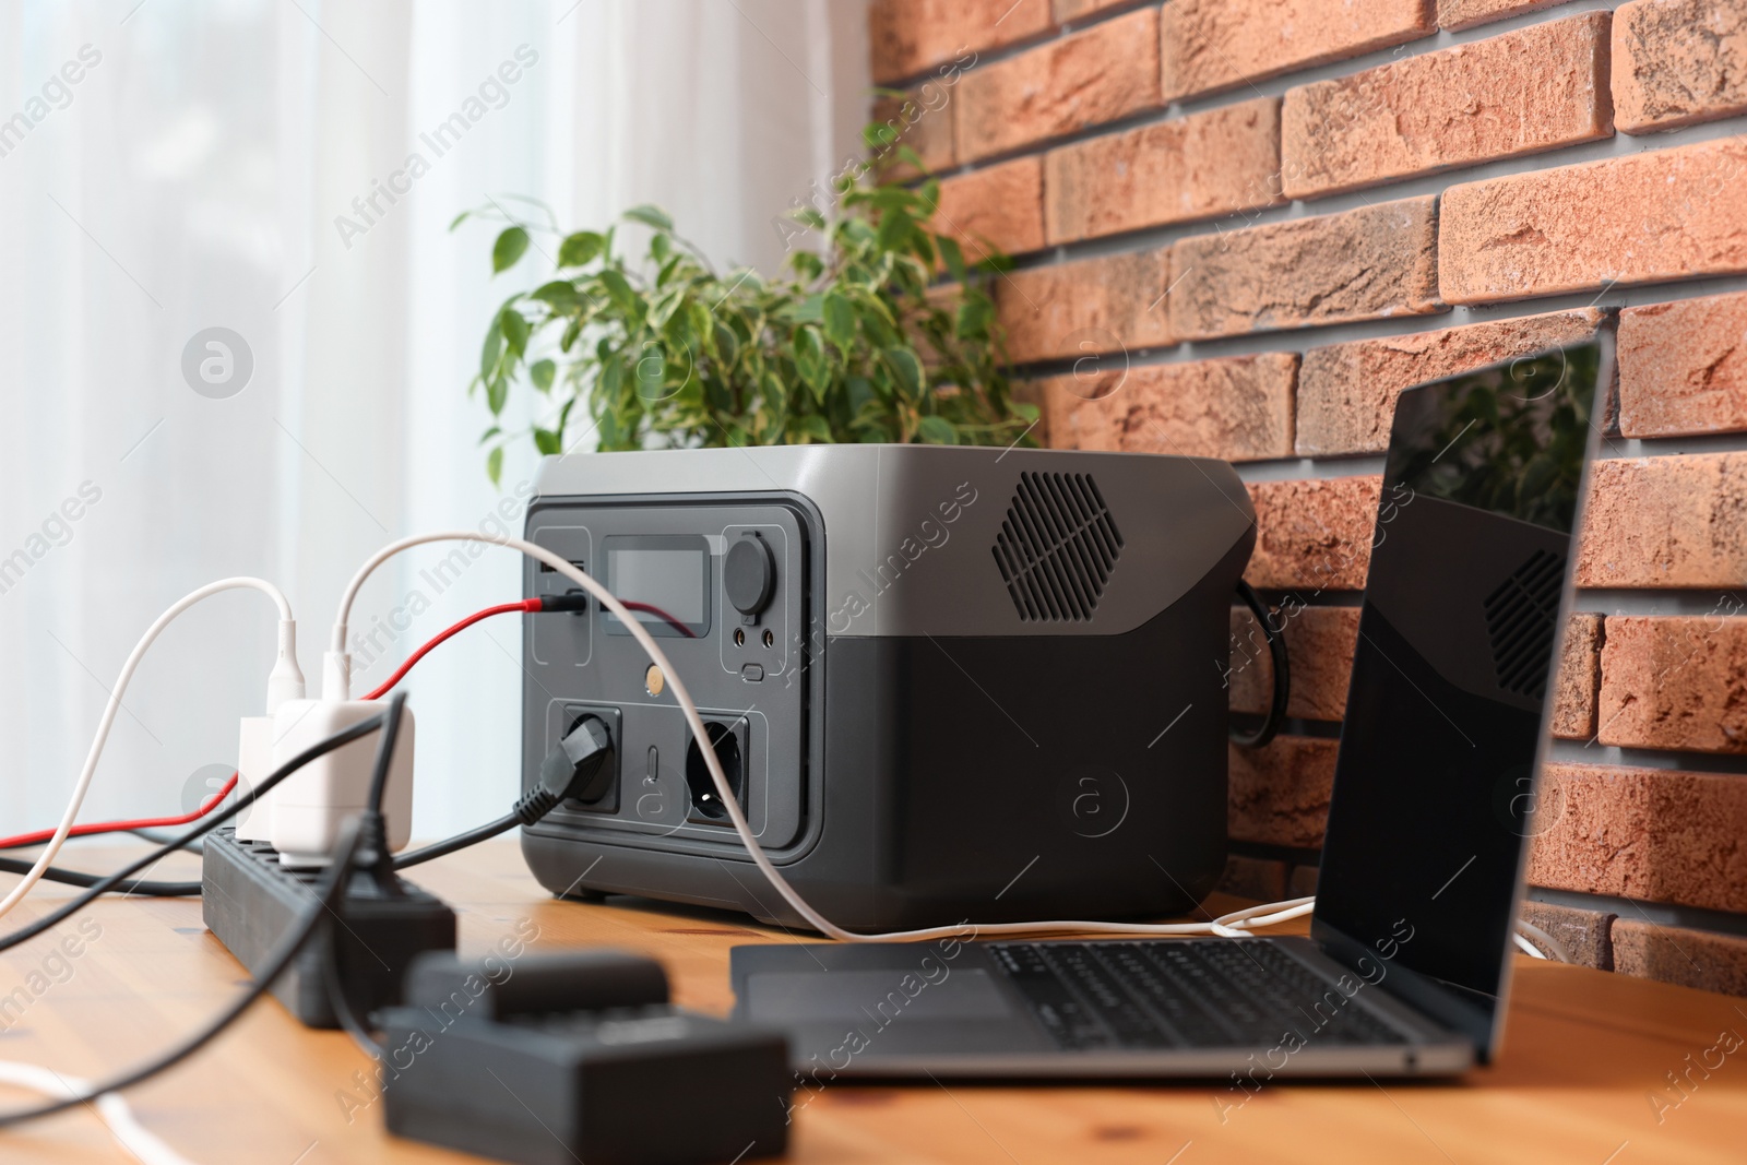
[[[735,1015],[821,1079],[1488,1062],[1611,367],[1602,335],[1401,393],[1309,938],[737,947]]]

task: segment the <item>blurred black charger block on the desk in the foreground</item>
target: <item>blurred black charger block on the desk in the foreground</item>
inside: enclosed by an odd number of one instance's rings
[[[381,1015],[388,1130],[522,1165],[688,1165],[788,1148],[788,1039],[667,1004],[660,964],[421,955]],[[404,1067],[400,1067],[404,1064]]]

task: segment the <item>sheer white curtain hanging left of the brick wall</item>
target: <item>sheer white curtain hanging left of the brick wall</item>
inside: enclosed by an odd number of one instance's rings
[[[659,203],[720,262],[774,269],[772,218],[858,147],[865,61],[844,0],[0,7],[0,831],[52,824],[121,662],[178,596],[278,582],[314,688],[365,555],[477,527],[529,480],[517,449],[487,484],[463,389],[489,311],[550,264],[491,279],[494,227],[451,234],[456,211],[526,194],[592,229]],[[222,381],[196,369],[203,395],[183,363],[208,328],[241,344],[218,337],[229,381],[196,346]],[[430,610],[363,681],[519,594],[514,555],[440,592],[437,557],[365,589],[356,629],[414,592]],[[234,763],[273,627],[238,592],[159,641],[86,819],[175,812]],[[503,620],[409,679],[419,837],[514,798],[519,658]]]

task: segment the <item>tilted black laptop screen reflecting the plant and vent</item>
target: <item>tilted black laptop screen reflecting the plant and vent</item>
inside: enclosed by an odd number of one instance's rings
[[[1588,342],[1406,389],[1389,438],[1312,934],[1481,1055],[1602,363]]]

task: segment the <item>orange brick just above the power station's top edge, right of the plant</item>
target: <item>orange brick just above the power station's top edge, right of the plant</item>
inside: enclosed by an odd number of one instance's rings
[[[1193,363],[1104,362],[1097,376],[1060,376],[1045,400],[1057,449],[1170,452],[1226,461],[1293,451],[1295,353]]]

